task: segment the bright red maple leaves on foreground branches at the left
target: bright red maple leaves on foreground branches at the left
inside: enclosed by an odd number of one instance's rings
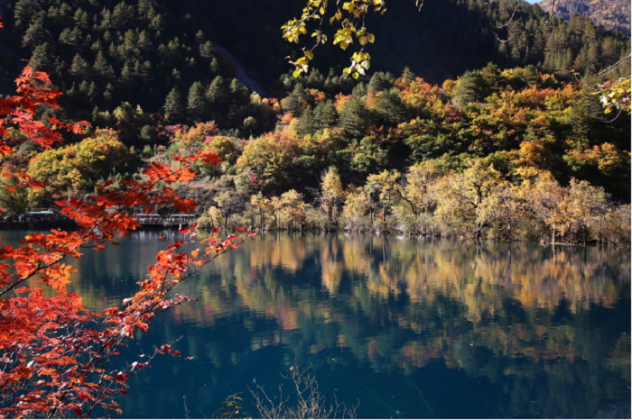
[[[56,117],[38,119],[42,108],[58,109],[60,92],[47,87],[51,82],[42,72],[25,68],[17,79],[17,94],[0,99],[0,153],[12,155],[20,142],[30,140],[49,150],[63,142],[62,133],[88,130],[88,123],[64,123]],[[81,297],[66,291],[72,266],[66,257],[79,258],[84,250],[101,251],[117,236],[138,227],[127,214],[131,207],[155,211],[172,205],[181,213],[193,212],[193,200],[178,196],[169,188],[188,182],[196,173],[191,164],[218,165],[213,151],[199,151],[188,157],[175,156],[178,168],[153,163],[144,169],[143,180],[124,179],[117,188],[112,181],[94,185],[95,194],[85,199],[72,197],[58,201],[61,213],[79,225],[76,232],[52,230],[24,237],[14,247],[0,243],[0,415],[4,417],[87,417],[93,410],[120,412],[116,395],[126,394],[127,381],[150,366],[160,353],[180,356],[169,344],[156,347],[129,365],[115,369],[118,348],[138,331],[148,331],[152,319],[182,302],[191,300],[172,288],[198,271],[210,260],[251,236],[229,235],[226,239],[196,240],[195,226],[181,228],[183,240],[169,244],[156,256],[146,278],[134,296],[120,307],[102,314],[81,305]],[[25,173],[7,173],[19,178],[20,187],[45,187]],[[156,188],[160,182],[164,188]],[[4,183],[5,188],[15,185]],[[116,243],[115,243],[116,244]],[[45,291],[50,289],[50,292]]]

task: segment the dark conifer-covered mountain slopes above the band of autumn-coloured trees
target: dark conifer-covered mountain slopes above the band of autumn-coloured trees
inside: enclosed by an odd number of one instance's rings
[[[408,66],[441,83],[493,61],[501,68],[533,64],[563,79],[572,69],[590,75],[629,50],[625,36],[580,16],[571,23],[553,19],[553,35],[538,31],[547,14],[526,3],[508,31],[497,26],[509,21],[515,2],[426,3],[418,13],[412,1],[393,2],[384,16],[371,16],[372,70],[400,74]],[[4,31],[14,50],[67,93],[64,105],[73,118],[107,125],[119,105],[139,105],[147,114],[161,111],[171,123],[212,119],[220,128],[263,132],[273,121],[262,116],[245,126],[256,114],[250,94],[213,42],[270,86],[289,69],[285,56],[293,47],[279,28],[298,6],[291,0],[10,0]],[[335,70],[329,79],[312,77],[346,91],[348,82],[337,75],[347,59],[338,48],[323,47],[317,67],[325,74]],[[287,90],[276,85],[273,92]]]

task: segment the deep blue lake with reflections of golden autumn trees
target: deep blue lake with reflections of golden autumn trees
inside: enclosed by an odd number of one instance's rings
[[[87,252],[70,291],[93,310],[120,306],[162,234],[180,235],[136,232]],[[266,233],[178,292],[200,301],[160,315],[119,362],[179,337],[182,358],[158,357],[131,380],[125,417],[184,417],[183,396],[191,417],[211,417],[235,392],[252,401],[253,379],[278,395],[297,365],[328,401],[359,401],[358,417],[629,410],[629,250]]]

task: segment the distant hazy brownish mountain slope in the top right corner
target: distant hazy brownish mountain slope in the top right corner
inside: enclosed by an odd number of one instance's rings
[[[553,0],[538,3],[550,12]],[[555,15],[565,21],[572,14],[588,16],[594,23],[630,35],[630,2],[628,0],[556,0]]]

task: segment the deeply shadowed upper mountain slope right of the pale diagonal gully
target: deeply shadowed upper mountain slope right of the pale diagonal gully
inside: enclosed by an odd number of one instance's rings
[[[302,2],[293,0],[234,0],[205,2],[182,0],[184,8],[201,10],[213,36],[241,59],[247,68],[265,82],[271,82],[290,69],[286,56],[302,46],[290,45],[281,39],[279,28],[289,18],[299,15]],[[482,68],[493,61],[502,68],[538,66],[545,72],[568,77],[572,68],[582,74],[588,68],[600,68],[618,54],[629,49],[629,40],[621,33],[598,30],[592,23],[581,21],[579,31],[569,29],[561,18],[553,19],[551,31],[537,32],[548,18],[538,5],[522,3],[511,25],[511,41],[506,29],[498,29],[510,21],[515,2],[479,0],[441,0],[425,2],[420,12],[413,0],[390,2],[384,16],[369,15],[367,27],[375,32],[376,43],[368,49],[372,70],[401,74],[404,67],[430,80],[442,83],[467,70]],[[327,31],[328,29],[325,28]],[[256,34],[256,37],[251,34]],[[331,32],[328,32],[330,36]],[[534,36],[530,36],[534,34]],[[586,36],[584,36],[586,35]],[[253,42],[253,39],[265,39]],[[606,41],[609,40],[609,41]],[[605,42],[605,45],[604,45]],[[594,51],[605,50],[604,57]],[[586,57],[591,56],[590,62]],[[326,74],[329,68],[347,66],[349,54],[339,48],[325,46],[316,51],[315,65]]]

